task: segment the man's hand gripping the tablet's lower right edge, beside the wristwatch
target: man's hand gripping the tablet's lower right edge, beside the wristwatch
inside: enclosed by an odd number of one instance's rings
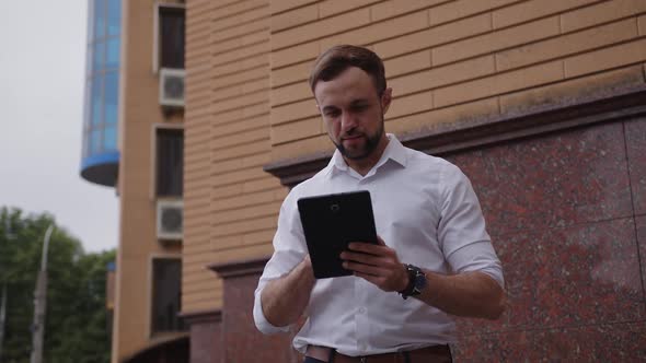
[[[380,236],[378,244],[353,242],[349,250],[341,254],[343,267],[355,272],[383,291],[402,291],[408,284],[406,268],[397,258],[397,253],[385,245]]]

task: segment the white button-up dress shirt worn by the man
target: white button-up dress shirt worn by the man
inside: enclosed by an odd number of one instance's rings
[[[308,253],[297,207],[302,197],[369,190],[377,234],[402,262],[445,274],[481,271],[504,284],[500,262],[466,176],[453,164],[388,137],[382,157],[366,176],[348,167],[336,151],[325,168],[285,199],[274,255],[255,291],[253,314],[261,331],[289,329],[267,321],[261,293],[268,281],[287,274]],[[432,291],[432,285],[427,289]],[[454,341],[454,324],[446,313],[353,276],[318,280],[305,315],[293,339],[301,352],[314,344],[356,356]]]

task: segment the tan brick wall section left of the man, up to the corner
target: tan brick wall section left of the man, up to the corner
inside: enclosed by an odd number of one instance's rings
[[[219,308],[205,267],[270,253],[285,188],[269,142],[269,2],[188,1],[183,311]]]

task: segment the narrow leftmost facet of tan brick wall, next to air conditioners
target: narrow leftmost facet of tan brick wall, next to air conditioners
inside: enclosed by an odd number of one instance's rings
[[[186,107],[184,150],[184,245],[182,307],[209,308],[220,298],[220,285],[194,256],[210,256],[209,243],[209,137],[211,86],[210,11],[211,1],[191,1],[186,7]],[[205,284],[210,284],[206,289]],[[206,295],[206,296],[204,296]]]

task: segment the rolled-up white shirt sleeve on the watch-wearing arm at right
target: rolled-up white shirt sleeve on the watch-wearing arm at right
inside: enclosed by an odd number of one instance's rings
[[[438,237],[447,261],[455,272],[480,271],[504,286],[503,267],[469,178],[451,164],[443,171],[442,186]]]

